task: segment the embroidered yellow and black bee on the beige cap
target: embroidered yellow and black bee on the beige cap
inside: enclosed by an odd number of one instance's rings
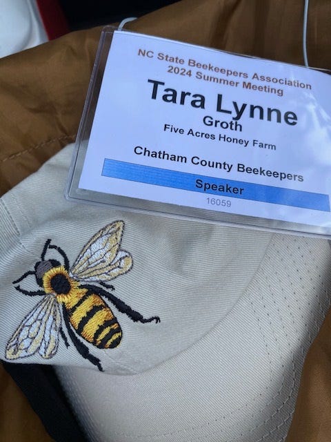
[[[108,281],[132,269],[132,256],[120,249],[123,227],[123,221],[115,221],[97,232],[83,247],[71,269],[63,249],[51,244],[51,240],[46,241],[34,271],[27,271],[13,282],[19,284],[27,276],[34,275],[42,290],[27,291],[20,285],[15,289],[24,295],[43,296],[43,299],[23,318],[8,340],[7,359],[26,358],[37,352],[43,358],[52,358],[57,353],[59,335],[69,347],[63,322],[79,354],[103,371],[99,358],[90,353],[79,337],[99,349],[119,345],[121,326],[105,298],[134,322],[160,322],[159,316],[143,318],[132,310],[112,294],[114,287],[108,284]],[[58,260],[46,260],[50,249],[59,253],[63,265]]]

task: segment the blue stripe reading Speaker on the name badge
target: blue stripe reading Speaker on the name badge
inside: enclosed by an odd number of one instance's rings
[[[195,175],[194,173],[170,171],[158,167],[109,160],[108,158],[103,163],[102,175],[119,178],[120,180],[153,184],[154,186],[171,187],[172,189],[330,212],[329,196],[323,193],[224,180],[222,178]],[[235,189],[237,189],[237,193],[235,193]]]

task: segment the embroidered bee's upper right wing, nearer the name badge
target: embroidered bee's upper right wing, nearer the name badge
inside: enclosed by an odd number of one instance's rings
[[[109,281],[132,267],[132,256],[120,250],[123,221],[115,221],[99,230],[83,247],[70,270],[81,281]]]

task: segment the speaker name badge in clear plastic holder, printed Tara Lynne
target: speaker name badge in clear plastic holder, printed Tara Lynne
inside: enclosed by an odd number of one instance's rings
[[[67,197],[331,236],[328,73],[106,28]]]

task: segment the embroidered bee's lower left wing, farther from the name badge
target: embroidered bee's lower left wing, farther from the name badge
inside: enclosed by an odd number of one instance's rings
[[[22,320],[6,347],[7,359],[39,354],[52,358],[59,345],[61,314],[55,296],[45,296]]]

